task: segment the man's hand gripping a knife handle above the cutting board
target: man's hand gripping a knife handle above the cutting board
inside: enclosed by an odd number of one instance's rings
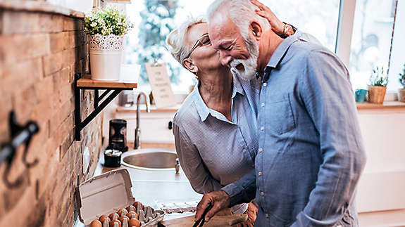
[[[223,190],[216,190],[211,193],[205,194],[199,204],[197,205],[197,212],[194,216],[194,221],[201,219],[204,210],[208,207],[208,204],[212,205],[211,210],[206,213],[205,221],[209,221],[216,212],[219,212],[221,209],[228,207],[230,205],[230,197]]]

